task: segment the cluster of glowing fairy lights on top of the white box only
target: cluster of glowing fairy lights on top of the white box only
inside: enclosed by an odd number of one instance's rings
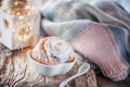
[[[28,1],[28,3],[32,3],[32,1]],[[11,15],[29,15],[35,12],[35,8],[27,4],[27,0],[3,0],[2,9]]]

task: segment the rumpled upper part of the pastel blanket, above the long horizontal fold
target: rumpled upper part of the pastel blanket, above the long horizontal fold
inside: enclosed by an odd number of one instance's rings
[[[90,3],[80,0],[49,1],[41,11],[46,18],[53,22],[91,20],[123,26],[130,30],[129,14],[107,0],[93,0]]]

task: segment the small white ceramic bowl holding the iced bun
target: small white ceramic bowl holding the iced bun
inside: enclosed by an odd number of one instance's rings
[[[37,61],[35,61],[31,58],[31,50],[29,50],[27,52],[27,57],[28,57],[28,61],[30,62],[30,64],[41,74],[41,75],[46,75],[46,76],[55,76],[55,75],[64,75],[67,72],[69,72],[73,66],[75,65],[77,58],[76,55],[74,55],[74,61],[70,63],[61,63],[57,65],[44,65],[41,64]]]

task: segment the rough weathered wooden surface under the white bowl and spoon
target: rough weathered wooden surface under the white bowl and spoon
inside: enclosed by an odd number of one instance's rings
[[[0,87],[58,87],[60,83],[75,74],[78,64],[62,76],[42,76],[29,64],[26,52],[30,48],[23,51],[11,51],[0,45]],[[82,76],[70,80],[66,87],[98,87],[95,73],[90,70]]]

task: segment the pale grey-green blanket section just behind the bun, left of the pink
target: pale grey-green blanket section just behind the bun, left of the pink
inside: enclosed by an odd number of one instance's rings
[[[70,41],[92,23],[93,22],[89,20],[66,21],[58,23],[43,20],[42,27],[48,35],[63,37],[67,41]]]

